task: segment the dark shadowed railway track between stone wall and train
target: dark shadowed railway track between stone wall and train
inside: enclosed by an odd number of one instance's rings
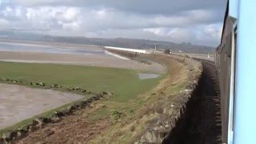
[[[221,104],[214,62],[202,62],[203,73],[188,103],[186,116],[168,143],[221,143]]]

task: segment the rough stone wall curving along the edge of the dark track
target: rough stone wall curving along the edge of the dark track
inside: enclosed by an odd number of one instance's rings
[[[145,133],[135,143],[165,143],[164,139],[172,133],[178,122],[186,117],[187,106],[190,105],[193,94],[197,90],[198,82],[202,77],[202,65],[200,63],[198,70],[195,70],[193,66],[190,66],[194,60],[178,56],[172,56],[172,58],[178,62],[183,62],[190,69],[189,71],[193,72],[193,76],[189,78],[184,91],[174,95],[174,98],[168,105],[163,105],[162,114],[150,121]]]

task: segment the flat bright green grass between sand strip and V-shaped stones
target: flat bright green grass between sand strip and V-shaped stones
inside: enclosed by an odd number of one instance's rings
[[[18,62],[0,62],[0,78],[80,86],[92,92],[105,90],[113,92],[115,96],[112,100],[118,102],[126,102],[143,94],[162,79],[140,80],[135,70],[128,69]]]

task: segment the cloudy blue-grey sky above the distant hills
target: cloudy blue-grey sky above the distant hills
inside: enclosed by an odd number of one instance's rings
[[[226,0],[0,0],[0,30],[218,46]]]

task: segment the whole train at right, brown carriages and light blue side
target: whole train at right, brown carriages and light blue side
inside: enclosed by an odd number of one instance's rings
[[[256,143],[255,8],[256,1],[228,0],[226,5],[222,38],[215,51],[222,143]]]

